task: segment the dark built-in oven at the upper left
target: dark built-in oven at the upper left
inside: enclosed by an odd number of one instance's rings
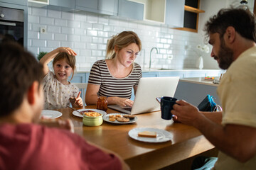
[[[24,43],[24,11],[0,6],[0,42]]]

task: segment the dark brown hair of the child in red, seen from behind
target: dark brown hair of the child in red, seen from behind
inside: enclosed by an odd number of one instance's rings
[[[6,42],[0,44],[0,74],[0,117],[2,117],[21,106],[34,81],[41,84],[43,67],[17,42]]]

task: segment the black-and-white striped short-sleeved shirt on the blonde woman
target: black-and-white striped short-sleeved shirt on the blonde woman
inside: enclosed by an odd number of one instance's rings
[[[99,60],[92,65],[88,83],[100,85],[100,96],[131,98],[132,87],[138,86],[141,77],[142,68],[136,62],[132,72],[127,77],[119,79],[110,74],[105,60]]]

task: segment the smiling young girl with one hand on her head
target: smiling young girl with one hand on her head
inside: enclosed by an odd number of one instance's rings
[[[40,60],[43,64],[43,93],[45,95],[44,109],[82,107],[82,98],[77,86],[68,81],[68,77],[75,69],[75,55],[69,47],[58,47],[48,52]],[[48,63],[53,60],[53,72],[50,72]],[[73,75],[71,79],[73,78]]]

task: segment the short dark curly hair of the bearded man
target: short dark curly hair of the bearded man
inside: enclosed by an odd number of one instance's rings
[[[223,8],[209,19],[204,30],[206,35],[219,33],[222,38],[229,26],[233,26],[243,38],[256,42],[255,16],[248,9]]]

